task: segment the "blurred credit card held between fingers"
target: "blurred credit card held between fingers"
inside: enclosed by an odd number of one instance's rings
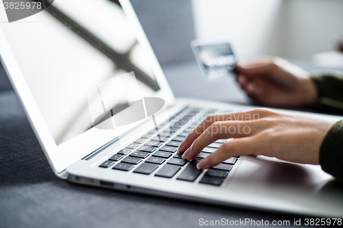
[[[206,80],[223,79],[235,75],[236,58],[229,42],[191,42],[191,48]]]

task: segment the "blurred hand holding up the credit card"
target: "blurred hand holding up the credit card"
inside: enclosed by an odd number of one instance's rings
[[[301,107],[318,102],[309,72],[281,58],[237,63],[237,81],[261,105]]]

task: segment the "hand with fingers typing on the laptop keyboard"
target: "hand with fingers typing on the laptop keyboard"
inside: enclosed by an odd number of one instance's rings
[[[203,157],[197,168],[211,168],[239,155],[265,155],[289,162],[319,164],[320,145],[334,123],[269,109],[211,114],[189,133],[178,151],[184,152],[183,159],[193,160],[216,140],[234,138]]]

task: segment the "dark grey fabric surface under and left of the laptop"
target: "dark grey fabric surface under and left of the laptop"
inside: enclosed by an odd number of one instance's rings
[[[0,78],[2,86],[8,84]],[[0,162],[0,227],[200,227],[200,218],[290,220],[292,225],[294,218],[300,218],[78,186],[59,179],[12,89],[0,91]]]

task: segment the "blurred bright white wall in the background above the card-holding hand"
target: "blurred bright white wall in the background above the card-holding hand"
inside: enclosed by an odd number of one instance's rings
[[[342,0],[193,0],[197,38],[230,40],[243,57],[308,58],[343,36]]]

